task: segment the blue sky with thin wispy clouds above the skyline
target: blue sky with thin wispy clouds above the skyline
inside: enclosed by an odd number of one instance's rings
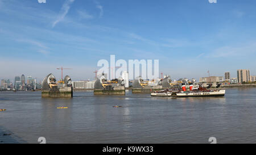
[[[253,0],[0,0],[0,79],[93,79],[101,59],[159,60],[172,79],[256,75]],[[159,75],[160,76],[160,75]]]

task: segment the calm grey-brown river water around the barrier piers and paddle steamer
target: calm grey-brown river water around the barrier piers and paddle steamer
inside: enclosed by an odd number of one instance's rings
[[[38,143],[39,137],[46,143],[209,143],[209,137],[256,143],[255,94],[256,88],[199,98],[74,91],[72,99],[63,99],[6,91],[0,93],[0,108],[7,109],[0,112],[0,144]]]

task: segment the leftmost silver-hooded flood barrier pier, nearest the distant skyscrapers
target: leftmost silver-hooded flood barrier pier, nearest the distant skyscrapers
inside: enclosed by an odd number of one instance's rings
[[[56,83],[53,74],[48,74],[42,82],[42,97],[72,98],[73,87],[71,82],[71,78],[66,76],[63,81]]]

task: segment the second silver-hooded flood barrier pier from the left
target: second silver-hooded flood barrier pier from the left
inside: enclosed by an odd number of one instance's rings
[[[96,78],[93,93],[94,95],[125,95],[125,83],[121,77],[106,80],[102,75]]]

